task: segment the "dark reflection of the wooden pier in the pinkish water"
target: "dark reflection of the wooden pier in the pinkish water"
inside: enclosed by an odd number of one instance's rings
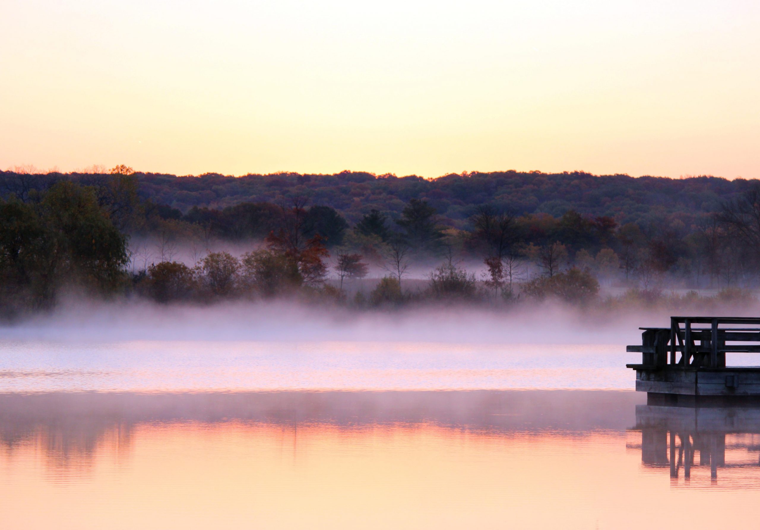
[[[641,462],[674,486],[760,486],[760,408],[637,405],[635,430]]]

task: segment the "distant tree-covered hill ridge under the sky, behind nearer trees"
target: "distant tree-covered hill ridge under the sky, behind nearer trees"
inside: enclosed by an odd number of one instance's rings
[[[12,172],[0,172],[0,193],[8,195],[17,180]],[[745,179],[713,176],[685,179],[627,175],[594,176],[589,173],[451,174],[437,179],[419,176],[375,176],[344,171],[334,175],[274,173],[239,177],[207,173],[174,176],[134,173],[139,195],[183,214],[191,208],[223,209],[241,202],[280,202],[283,198],[308,197],[312,205],[334,208],[350,223],[376,209],[392,219],[401,215],[411,198],[425,200],[444,224],[464,229],[473,208],[489,204],[515,214],[549,214],[561,217],[573,210],[582,215],[614,217],[619,224],[661,223],[663,216],[690,224],[701,214],[717,211],[721,201],[749,189]],[[45,186],[54,179],[94,184],[105,175],[50,173],[27,175],[27,187]]]

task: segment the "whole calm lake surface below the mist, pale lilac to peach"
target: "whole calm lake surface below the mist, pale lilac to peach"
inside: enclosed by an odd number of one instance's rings
[[[619,345],[0,344],[0,528],[752,528],[760,411]],[[43,392],[40,392],[43,391]],[[699,509],[714,506],[714,509]]]

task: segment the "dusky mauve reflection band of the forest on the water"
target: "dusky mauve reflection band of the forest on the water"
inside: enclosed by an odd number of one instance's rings
[[[13,452],[33,441],[49,459],[65,465],[98,450],[128,452],[132,432],[141,425],[343,430],[435,425],[490,435],[581,434],[624,428],[638,401],[641,395],[632,392],[596,391],[0,394],[0,445]]]

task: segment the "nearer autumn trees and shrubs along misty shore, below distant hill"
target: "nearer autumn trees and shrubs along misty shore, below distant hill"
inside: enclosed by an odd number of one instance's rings
[[[366,277],[371,267],[384,278],[356,303],[587,301],[597,297],[600,282],[651,294],[666,282],[752,287],[760,272],[757,181],[689,226],[622,223],[574,209],[520,214],[491,202],[470,208],[461,227],[414,197],[397,217],[369,208],[353,224],[306,195],[183,212],[145,198],[127,167],[90,181],[6,172],[0,184],[6,313],[52,306],[74,288],[160,301],[295,294],[341,300],[344,283]],[[134,243],[145,238],[150,250]],[[233,256],[213,248],[223,242],[250,249]],[[178,259],[180,246],[195,249],[189,263]],[[423,292],[403,288],[410,266],[436,262]],[[462,265],[474,262],[482,264],[478,276]]]

